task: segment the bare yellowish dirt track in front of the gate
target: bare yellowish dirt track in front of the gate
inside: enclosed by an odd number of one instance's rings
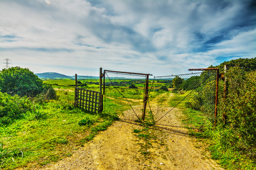
[[[195,139],[178,128],[149,128],[155,138],[145,142],[134,129],[143,127],[133,122],[116,121],[101,131],[72,156],[35,169],[222,169],[203,156]],[[142,152],[142,146],[151,143]],[[150,154],[147,154],[150,153]]]

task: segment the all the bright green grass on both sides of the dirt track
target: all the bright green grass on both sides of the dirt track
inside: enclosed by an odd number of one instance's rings
[[[80,84],[86,84],[84,88],[99,91],[98,80],[80,80]],[[75,80],[44,80],[44,83],[52,85],[57,92],[56,100],[41,101],[40,98],[32,103],[32,111],[24,114],[23,118],[16,120],[13,124],[0,126],[0,169],[14,169],[17,167],[43,166],[48,163],[57,162],[64,157],[71,156],[72,151],[84,146],[91,141],[98,131],[106,130],[113,121],[130,105],[142,107],[143,84],[139,88],[130,89],[129,84],[122,86],[106,86],[104,96],[104,112],[92,114],[73,107],[75,98]],[[125,82],[124,82],[125,83]],[[167,84],[160,83],[160,86]],[[203,112],[186,108],[186,102],[193,100],[191,97],[181,101],[191,91],[157,91],[159,84],[154,84],[150,91],[150,102],[163,107],[182,109],[182,123],[184,126],[195,126],[197,131],[191,130],[191,135],[200,138],[200,141],[209,143],[209,139],[218,135],[220,131],[212,129],[212,122],[208,120]],[[192,94],[196,94],[193,92]],[[170,97],[166,97],[170,96]],[[154,112],[147,111],[144,124],[152,126]],[[202,128],[203,125],[203,129]],[[134,133],[139,133],[134,131]],[[215,133],[215,134],[214,134]],[[139,134],[141,137],[144,134]],[[143,136],[144,137],[144,136]],[[212,139],[214,141],[214,139]],[[214,159],[220,158],[214,151],[214,142],[210,142],[209,150],[212,151]],[[144,150],[142,150],[143,152]],[[230,156],[231,155],[231,156]],[[233,157],[232,157],[233,156]],[[236,162],[241,156],[226,153],[226,162],[220,163],[232,169],[232,162]],[[230,158],[231,159],[228,159]],[[240,167],[253,167],[253,162],[241,162]],[[249,168],[250,169],[250,168]]]

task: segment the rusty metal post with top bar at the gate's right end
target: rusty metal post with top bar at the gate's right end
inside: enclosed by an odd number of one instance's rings
[[[218,79],[220,78],[220,73],[218,68],[209,68],[209,69],[188,69],[189,71],[216,71],[216,94],[215,94],[215,109],[214,109],[214,126],[217,124],[217,115],[218,115]]]

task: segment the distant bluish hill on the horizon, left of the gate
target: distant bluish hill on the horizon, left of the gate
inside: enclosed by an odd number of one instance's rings
[[[47,72],[47,73],[36,73],[40,79],[75,79],[75,75],[68,76],[64,74],[54,73],[54,72]],[[99,76],[84,76],[84,75],[77,75],[77,79],[99,79]]]

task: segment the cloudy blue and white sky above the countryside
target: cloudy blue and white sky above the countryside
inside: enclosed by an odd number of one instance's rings
[[[0,60],[154,76],[256,57],[255,0],[0,0]]]

